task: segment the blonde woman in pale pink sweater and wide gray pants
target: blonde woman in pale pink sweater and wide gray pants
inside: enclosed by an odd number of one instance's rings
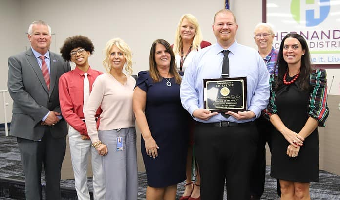
[[[92,146],[103,156],[106,200],[136,200],[138,192],[135,117],[131,50],[120,38],[106,43],[103,65],[85,109]],[[101,106],[97,131],[95,112]]]

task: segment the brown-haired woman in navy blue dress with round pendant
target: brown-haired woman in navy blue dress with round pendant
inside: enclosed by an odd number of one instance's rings
[[[186,178],[188,113],[180,101],[181,77],[170,44],[154,41],[149,62],[149,71],[138,73],[133,95],[148,178],[146,198],[174,200],[177,184]]]

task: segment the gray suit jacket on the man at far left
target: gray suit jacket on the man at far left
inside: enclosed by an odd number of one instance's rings
[[[39,64],[29,48],[26,52],[8,58],[8,91],[13,99],[10,135],[29,140],[43,137],[49,128],[52,137],[67,135],[67,124],[61,119],[54,126],[40,125],[49,110],[61,113],[59,105],[59,77],[71,70],[69,62],[52,52],[50,54],[50,91]]]

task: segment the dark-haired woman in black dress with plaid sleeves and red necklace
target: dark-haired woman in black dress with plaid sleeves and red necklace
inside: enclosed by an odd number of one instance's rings
[[[270,78],[264,114],[276,127],[271,134],[271,176],[280,180],[281,200],[309,200],[310,182],[319,181],[318,126],[328,116],[326,71],[312,69],[306,40],[286,35]]]

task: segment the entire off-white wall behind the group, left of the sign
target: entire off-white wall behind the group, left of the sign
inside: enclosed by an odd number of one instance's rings
[[[114,37],[121,37],[133,51],[134,74],[149,68],[149,51],[155,39],[163,38],[173,43],[174,34],[183,14],[195,15],[200,23],[204,40],[215,43],[212,21],[216,11],[224,8],[224,0],[0,0],[2,44],[0,54],[0,90],[7,89],[7,59],[29,48],[26,36],[28,25],[34,20],[44,20],[52,28],[51,51],[59,53],[66,37],[84,35],[92,39],[95,52],[90,57],[94,69],[104,71],[103,49]],[[239,24],[237,40],[253,46],[254,26],[261,22],[262,0],[231,2]],[[40,9],[41,8],[41,9]],[[40,10],[38,12],[38,10]],[[249,18],[249,13],[252,17]],[[6,94],[7,118],[11,119],[12,100]],[[0,123],[4,122],[0,100]]]

